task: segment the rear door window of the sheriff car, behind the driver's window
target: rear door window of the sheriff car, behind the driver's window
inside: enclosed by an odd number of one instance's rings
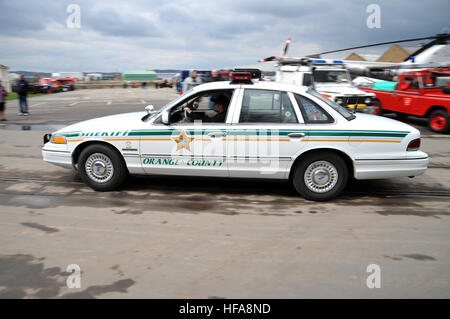
[[[245,90],[240,123],[298,123],[286,92]]]

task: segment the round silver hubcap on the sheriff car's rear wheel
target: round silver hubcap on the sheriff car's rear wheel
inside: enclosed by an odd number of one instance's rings
[[[315,193],[325,193],[333,189],[338,181],[336,167],[327,161],[311,163],[305,171],[306,186]]]

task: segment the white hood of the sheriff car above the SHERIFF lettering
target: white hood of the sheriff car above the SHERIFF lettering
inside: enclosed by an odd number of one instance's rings
[[[99,117],[66,126],[54,132],[54,134],[136,129],[142,125],[143,122],[141,119],[146,114],[146,112],[133,112]]]

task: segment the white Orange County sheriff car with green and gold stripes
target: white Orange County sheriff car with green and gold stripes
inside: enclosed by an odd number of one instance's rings
[[[99,191],[128,174],[269,178],[292,181],[310,200],[334,198],[350,177],[425,172],[417,129],[354,114],[307,87],[253,82],[256,73],[199,85],[159,111],[148,106],[46,134],[43,158],[77,168]]]

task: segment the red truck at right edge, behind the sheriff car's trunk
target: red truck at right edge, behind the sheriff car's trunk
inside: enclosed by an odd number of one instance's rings
[[[450,68],[409,71],[399,75],[398,82],[379,82],[362,90],[375,93],[375,114],[424,117],[432,131],[450,131]]]

